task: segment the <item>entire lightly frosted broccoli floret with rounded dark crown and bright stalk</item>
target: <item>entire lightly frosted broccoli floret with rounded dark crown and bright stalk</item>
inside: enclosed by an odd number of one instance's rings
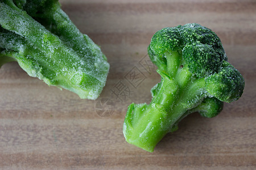
[[[131,104],[123,124],[126,141],[152,152],[185,116],[214,117],[223,101],[238,100],[245,81],[227,60],[221,40],[209,28],[185,24],[156,32],[148,46],[161,82],[150,104]]]

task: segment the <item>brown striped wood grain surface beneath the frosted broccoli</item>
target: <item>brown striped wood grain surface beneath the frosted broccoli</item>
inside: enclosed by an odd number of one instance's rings
[[[1,169],[256,169],[256,1],[61,0],[108,57],[100,99],[48,87],[17,63],[0,69]],[[220,37],[245,78],[241,99],[214,118],[191,114],[153,153],[125,142],[127,106],[159,82],[147,46],[163,27],[199,23]]]

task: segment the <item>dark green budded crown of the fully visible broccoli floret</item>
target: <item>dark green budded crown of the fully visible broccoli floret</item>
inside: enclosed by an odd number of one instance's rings
[[[172,75],[187,67],[191,76],[205,78],[209,96],[232,102],[242,95],[243,77],[227,62],[221,40],[209,28],[196,23],[163,28],[152,37],[148,51],[150,58],[158,58],[153,61],[161,71]]]

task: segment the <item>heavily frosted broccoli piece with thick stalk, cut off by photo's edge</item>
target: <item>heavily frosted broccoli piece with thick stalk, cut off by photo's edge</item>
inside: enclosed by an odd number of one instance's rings
[[[0,66],[18,61],[49,86],[96,99],[109,63],[98,45],[71,22],[57,0],[0,1]]]

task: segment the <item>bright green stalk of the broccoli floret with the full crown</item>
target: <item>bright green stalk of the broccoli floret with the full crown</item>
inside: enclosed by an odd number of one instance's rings
[[[195,78],[187,70],[187,67],[180,68],[175,79],[157,70],[162,83],[151,103],[129,106],[123,128],[127,142],[152,152],[164,135],[177,129],[177,122],[192,113],[188,110],[203,101],[204,78]]]

